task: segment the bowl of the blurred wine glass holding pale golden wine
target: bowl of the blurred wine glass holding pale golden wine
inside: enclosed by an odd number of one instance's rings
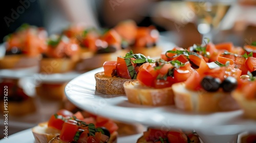
[[[198,32],[203,39],[214,41],[220,31],[220,24],[224,16],[236,0],[185,0],[188,7],[196,15]]]

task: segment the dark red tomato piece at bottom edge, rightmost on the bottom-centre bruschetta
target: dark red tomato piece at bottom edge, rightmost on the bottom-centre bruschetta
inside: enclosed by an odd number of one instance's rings
[[[187,143],[187,136],[181,132],[169,131],[167,137],[169,142]]]

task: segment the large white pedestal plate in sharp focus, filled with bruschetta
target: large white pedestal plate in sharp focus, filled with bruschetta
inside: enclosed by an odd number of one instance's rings
[[[157,60],[130,51],[73,79],[65,92],[78,107],[104,117],[195,129],[206,142],[234,141],[256,128],[254,44],[207,41],[171,48]],[[121,83],[125,94],[111,93],[121,87],[105,81],[122,78],[130,79]]]

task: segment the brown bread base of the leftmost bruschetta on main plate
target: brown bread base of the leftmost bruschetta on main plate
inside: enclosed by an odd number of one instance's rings
[[[121,95],[125,94],[123,83],[131,79],[121,77],[108,77],[104,72],[99,72],[94,75],[96,80],[96,91],[103,94]]]

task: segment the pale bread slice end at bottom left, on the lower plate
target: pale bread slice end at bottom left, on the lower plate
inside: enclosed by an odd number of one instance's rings
[[[37,143],[48,143],[53,137],[60,134],[60,130],[48,127],[48,123],[40,123],[32,128]]]

